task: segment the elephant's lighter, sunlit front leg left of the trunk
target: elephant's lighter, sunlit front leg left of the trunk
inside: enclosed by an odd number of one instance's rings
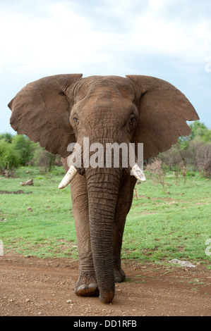
[[[74,292],[78,296],[99,296],[90,242],[88,192],[83,176],[76,175],[71,182],[71,196],[78,242],[78,280]]]

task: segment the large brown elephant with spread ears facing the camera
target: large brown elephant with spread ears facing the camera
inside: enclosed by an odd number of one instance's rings
[[[111,302],[115,282],[126,278],[121,246],[133,189],[137,178],[145,178],[140,167],[131,172],[131,165],[85,167],[82,162],[73,166],[68,163],[73,151],[67,147],[79,144],[83,156],[83,138],[88,137],[90,143],[102,146],[143,143],[143,159],[157,156],[176,144],[179,136],[191,134],[186,121],[199,119],[195,108],[179,89],[157,77],[82,74],[52,75],[31,82],[8,107],[11,127],[19,135],[61,156],[66,175],[60,188],[71,183],[78,242],[74,292]]]

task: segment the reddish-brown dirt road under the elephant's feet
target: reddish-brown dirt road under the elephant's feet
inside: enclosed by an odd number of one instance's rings
[[[211,273],[123,261],[126,282],[111,304],[73,293],[78,263],[70,259],[0,256],[0,316],[210,316]]]

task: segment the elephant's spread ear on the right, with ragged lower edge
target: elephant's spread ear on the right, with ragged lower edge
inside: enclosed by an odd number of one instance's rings
[[[179,89],[159,78],[127,75],[137,92],[140,120],[133,141],[143,143],[144,159],[170,149],[179,136],[191,134],[186,120],[199,120]]]

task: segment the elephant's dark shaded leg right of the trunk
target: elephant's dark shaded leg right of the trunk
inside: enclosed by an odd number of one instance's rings
[[[113,225],[112,250],[114,260],[114,279],[115,282],[123,282],[126,279],[126,274],[121,268],[121,246],[123,238],[123,230],[126,223],[126,216],[131,208],[133,201],[133,189],[135,186],[135,178],[128,175],[120,189],[118,201],[116,204],[116,214]]]

